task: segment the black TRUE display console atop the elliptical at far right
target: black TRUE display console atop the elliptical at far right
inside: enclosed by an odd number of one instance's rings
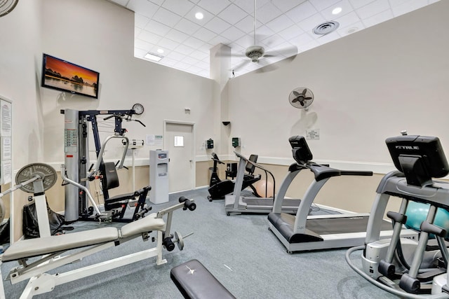
[[[385,143],[394,166],[406,175],[409,185],[424,186],[431,183],[431,178],[449,174],[438,137],[403,135],[388,138]]]

